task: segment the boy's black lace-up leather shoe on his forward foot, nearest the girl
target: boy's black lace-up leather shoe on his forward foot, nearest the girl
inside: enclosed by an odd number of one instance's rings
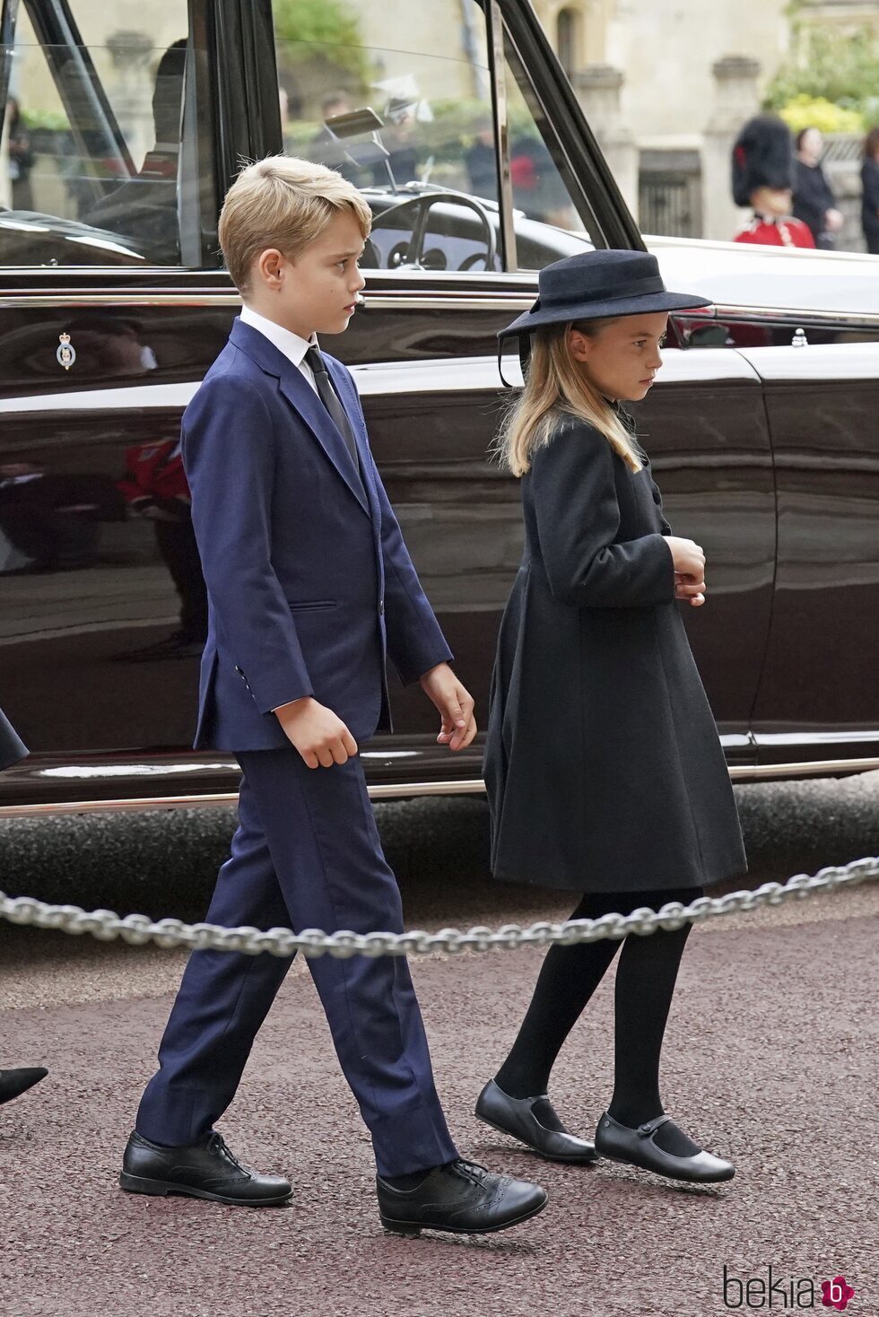
[[[380,1176],[375,1184],[382,1225],[395,1234],[491,1234],[528,1221],[546,1206],[546,1189],[492,1175],[462,1158],[434,1167],[416,1189],[393,1189]]]

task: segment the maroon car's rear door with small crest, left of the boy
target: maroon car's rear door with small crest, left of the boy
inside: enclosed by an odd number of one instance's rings
[[[46,794],[187,772],[205,601],[175,446],[239,304],[220,8],[155,0],[118,34],[112,7],[3,7],[32,163],[0,209],[0,691]]]

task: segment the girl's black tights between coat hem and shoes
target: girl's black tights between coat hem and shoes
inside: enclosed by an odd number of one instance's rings
[[[571,919],[597,919],[615,910],[628,914],[638,906],[658,910],[667,901],[688,905],[700,896],[701,888],[584,896]],[[663,1112],[659,1052],[690,927],[646,936],[629,934],[622,940],[615,992],[615,1084],[608,1114],[629,1127]],[[504,1093],[518,1098],[546,1093],[555,1058],[618,948],[618,939],[550,947],[516,1042],[495,1076]],[[679,1156],[696,1151],[696,1144],[671,1126],[658,1131],[657,1142],[668,1144],[666,1151]]]

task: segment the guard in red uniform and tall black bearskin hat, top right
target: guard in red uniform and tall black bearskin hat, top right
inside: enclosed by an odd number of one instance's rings
[[[778,115],[757,115],[733,146],[733,199],[736,205],[754,211],[736,242],[815,248],[808,225],[791,215],[793,149],[787,124]]]

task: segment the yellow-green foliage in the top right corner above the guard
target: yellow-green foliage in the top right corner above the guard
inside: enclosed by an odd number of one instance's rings
[[[805,96],[853,111],[863,121],[878,119],[879,25],[820,25],[804,17],[799,4],[790,12],[791,55],[767,87],[765,108],[780,111]]]

